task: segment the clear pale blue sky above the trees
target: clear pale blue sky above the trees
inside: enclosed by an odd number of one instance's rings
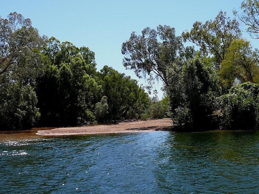
[[[133,71],[123,67],[121,54],[121,45],[132,31],[140,33],[147,26],[155,28],[166,24],[180,35],[190,30],[195,21],[214,19],[220,10],[233,17],[232,10],[238,9],[240,4],[241,0],[8,0],[1,2],[0,16],[6,18],[16,11],[30,18],[41,35],[54,36],[61,42],[70,41],[77,47],[89,47],[95,52],[98,70],[108,65],[136,78]],[[259,47],[259,40],[250,39],[246,33],[244,37]],[[145,84],[144,79],[139,83]],[[156,84],[157,89],[160,87],[161,83]],[[162,95],[159,91],[158,96]]]

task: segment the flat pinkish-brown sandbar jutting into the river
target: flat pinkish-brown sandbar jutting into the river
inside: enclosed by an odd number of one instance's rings
[[[140,131],[154,131],[166,130],[172,126],[172,120],[169,118],[135,121],[135,122],[121,122],[112,125],[89,125],[80,127],[66,127],[54,128],[49,130],[39,130],[37,135],[80,135],[80,134],[97,134],[97,133],[125,133],[125,132],[140,132]]]

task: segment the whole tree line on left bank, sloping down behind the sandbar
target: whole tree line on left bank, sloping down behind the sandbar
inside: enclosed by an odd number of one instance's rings
[[[88,47],[40,36],[16,12],[0,18],[0,55],[1,129],[148,119],[160,103],[130,76],[108,66],[98,72]]]

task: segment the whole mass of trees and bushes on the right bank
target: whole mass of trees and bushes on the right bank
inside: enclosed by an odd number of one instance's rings
[[[176,130],[259,126],[259,53],[238,22],[258,39],[259,1],[243,1],[233,13],[234,19],[220,11],[214,20],[197,21],[181,36],[167,25],[147,27],[122,44],[126,68],[151,85],[162,80]]]

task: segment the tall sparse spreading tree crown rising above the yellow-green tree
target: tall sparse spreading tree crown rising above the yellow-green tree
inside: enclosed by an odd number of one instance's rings
[[[201,47],[203,53],[210,53],[215,57],[215,68],[220,68],[220,63],[225,59],[226,49],[233,39],[241,36],[239,23],[229,17],[226,12],[220,11],[216,18],[202,22],[195,22],[190,32],[183,32],[184,41],[191,41]]]

